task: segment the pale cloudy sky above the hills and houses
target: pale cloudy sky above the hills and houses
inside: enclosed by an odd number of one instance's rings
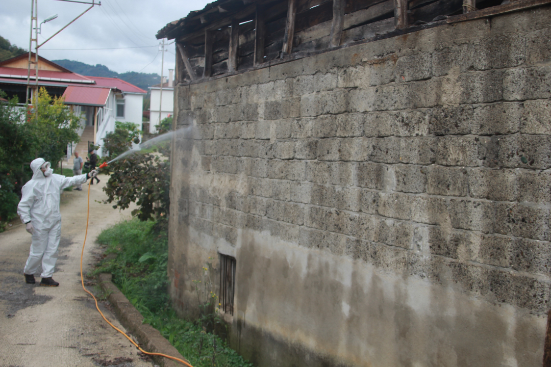
[[[79,0],[91,2],[91,0]],[[69,59],[103,64],[118,73],[161,73],[161,51],[155,34],[167,23],[204,8],[213,0],[101,0],[60,34],[39,48],[50,60]],[[58,18],[42,24],[39,42],[89,7],[60,0],[38,0],[39,24],[50,15]],[[0,36],[12,45],[29,47],[31,0],[0,0]],[[174,44],[166,47],[164,69],[174,68]]]

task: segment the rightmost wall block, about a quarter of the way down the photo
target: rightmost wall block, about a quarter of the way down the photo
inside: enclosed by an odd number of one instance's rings
[[[543,66],[508,69],[503,86],[505,101],[547,99],[551,97],[551,70]]]

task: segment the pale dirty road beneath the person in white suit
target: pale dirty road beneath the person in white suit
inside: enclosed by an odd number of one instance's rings
[[[129,218],[130,213],[95,201],[106,197],[101,188],[107,177],[99,178],[100,184],[90,187],[84,272],[90,269],[93,255],[99,251],[95,239],[101,230]],[[101,319],[93,299],[80,285],[87,189],[83,185],[82,191],[62,195],[60,253],[53,274],[59,287],[40,287],[40,276],[36,277],[36,284],[25,283],[23,267],[31,237],[24,225],[0,233],[0,367],[153,366]],[[103,303],[100,308],[107,319],[124,330]]]

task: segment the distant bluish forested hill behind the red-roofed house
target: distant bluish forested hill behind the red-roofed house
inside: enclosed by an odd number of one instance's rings
[[[88,75],[88,76],[105,76],[107,78],[119,78],[128,83],[132,83],[137,87],[142,88],[145,91],[148,91],[148,87],[159,84],[161,82],[161,76],[159,74],[146,74],[146,73],[136,73],[136,72],[126,72],[126,73],[117,73],[112,70],[109,70],[105,65],[96,64],[89,65],[79,61],[72,60],[52,60],[56,64],[71,70],[73,73]]]

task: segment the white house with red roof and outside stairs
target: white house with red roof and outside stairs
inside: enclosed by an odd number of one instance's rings
[[[34,56],[33,56],[34,59]],[[25,101],[29,54],[0,62],[0,90],[8,96]],[[78,150],[87,154],[88,144],[99,145],[102,139],[115,130],[115,121],[133,122],[142,129],[143,89],[117,78],[83,76],[39,56],[38,82],[52,96],[63,96],[73,111],[81,114],[80,143],[69,146],[67,156]],[[31,68],[31,85],[36,83],[34,66]],[[34,92],[34,90],[33,90]]]

